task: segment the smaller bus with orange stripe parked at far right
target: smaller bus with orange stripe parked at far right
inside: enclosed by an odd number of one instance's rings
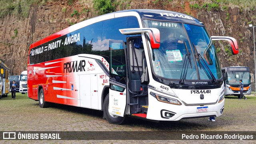
[[[251,94],[250,69],[246,66],[230,66],[222,68],[225,95],[234,95],[240,98],[239,80],[244,82],[243,94]]]

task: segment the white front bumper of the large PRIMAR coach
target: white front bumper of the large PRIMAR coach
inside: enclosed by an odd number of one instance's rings
[[[149,89],[154,93],[158,93],[152,89]],[[180,99],[176,98],[181,102]],[[158,101],[156,98],[149,94],[148,96],[148,112],[147,112],[147,119],[150,120],[163,120],[163,121],[176,121],[180,119],[186,118],[200,118],[200,117],[208,117],[208,116],[221,116],[224,110],[224,100],[220,103],[212,104],[212,105],[204,105],[208,106],[208,112],[197,112],[198,107],[204,106],[185,106],[183,103],[182,105],[174,105],[168,104],[164,102]],[[166,118],[166,114],[174,114],[170,118]]]

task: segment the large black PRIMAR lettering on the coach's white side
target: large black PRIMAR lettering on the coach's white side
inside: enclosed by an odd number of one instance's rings
[[[66,62],[63,65],[63,73],[83,72],[85,71],[84,67],[85,67],[85,60],[80,60],[79,63],[77,61]]]

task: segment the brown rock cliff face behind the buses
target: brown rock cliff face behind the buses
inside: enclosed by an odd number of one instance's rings
[[[11,69],[11,74],[26,70],[30,44],[58,32],[74,23],[97,16],[92,0],[48,1],[44,5],[30,7],[28,18],[8,15],[0,19],[0,58]],[[194,3],[192,3],[193,5]],[[212,36],[232,36],[238,41],[239,54],[232,56],[224,43],[216,43],[220,64],[248,66],[254,90],[253,30],[249,24],[256,22],[256,10],[228,6],[219,8],[191,8],[185,0],[119,0],[116,10],[163,9],[190,14],[201,20]],[[76,12],[74,11],[76,10]],[[71,15],[74,16],[71,16]]]

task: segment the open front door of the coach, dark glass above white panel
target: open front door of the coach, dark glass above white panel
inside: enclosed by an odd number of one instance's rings
[[[109,88],[109,113],[113,117],[125,116],[126,97],[126,57],[124,42],[122,40],[109,41],[110,56],[110,88]]]

